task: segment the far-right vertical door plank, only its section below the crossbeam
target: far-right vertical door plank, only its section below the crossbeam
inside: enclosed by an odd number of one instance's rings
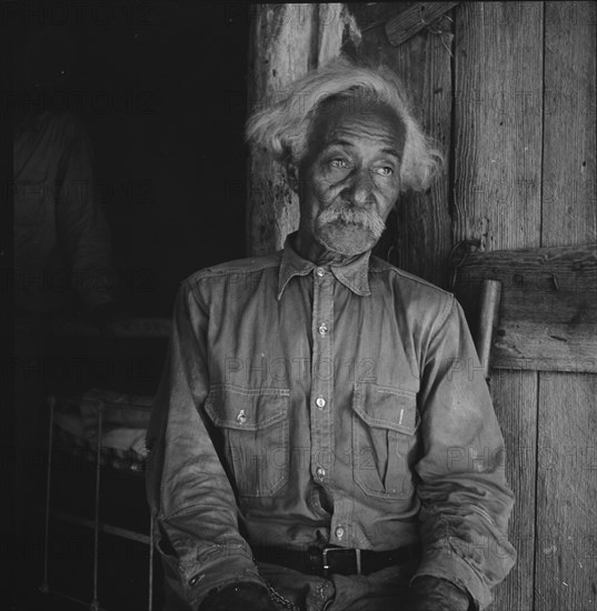
[[[537,611],[597,608],[596,395],[595,374],[540,374]]]

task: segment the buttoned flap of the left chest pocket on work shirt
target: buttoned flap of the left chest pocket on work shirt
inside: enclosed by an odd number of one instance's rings
[[[289,395],[288,389],[217,384],[209,391],[206,411],[216,427],[256,431],[287,418]]]

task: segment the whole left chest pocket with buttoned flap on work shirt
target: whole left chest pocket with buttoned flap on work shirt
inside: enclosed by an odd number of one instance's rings
[[[288,389],[213,387],[206,411],[223,437],[223,453],[241,497],[272,497],[288,482]]]

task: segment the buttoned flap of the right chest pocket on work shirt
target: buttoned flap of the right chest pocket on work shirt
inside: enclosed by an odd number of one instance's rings
[[[419,425],[417,394],[409,390],[356,383],[352,408],[369,427],[412,434]]]

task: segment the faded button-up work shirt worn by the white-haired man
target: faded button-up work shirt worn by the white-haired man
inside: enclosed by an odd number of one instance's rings
[[[183,607],[262,583],[251,547],[389,550],[477,607],[514,564],[504,440],[451,293],[367,252],[281,252],[182,282],[148,497]]]

